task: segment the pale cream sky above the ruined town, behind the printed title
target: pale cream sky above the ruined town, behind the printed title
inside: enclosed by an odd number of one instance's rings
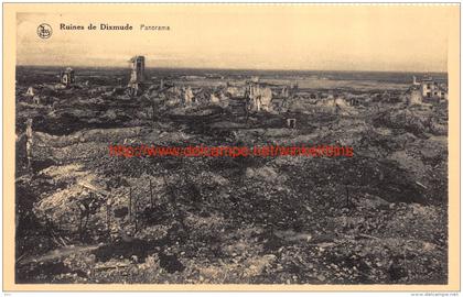
[[[237,4],[18,13],[17,62],[127,66],[144,55],[147,67],[445,72],[457,15],[449,6]],[[41,23],[53,28],[47,40],[36,34]],[[133,30],[61,31],[60,23]],[[143,32],[141,24],[171,30]]]

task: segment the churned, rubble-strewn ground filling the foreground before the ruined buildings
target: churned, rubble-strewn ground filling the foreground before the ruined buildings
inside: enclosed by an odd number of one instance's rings
[[[446,102],[290,102],[246,120],[226,105],[170,106],[155,88],[128,98],[117,73],[43,88],[35,105],[23,94],[41,82],[19,77],[18,283],[448,280]],[[354,156],[125,158],[109,144],[340,144]]]

